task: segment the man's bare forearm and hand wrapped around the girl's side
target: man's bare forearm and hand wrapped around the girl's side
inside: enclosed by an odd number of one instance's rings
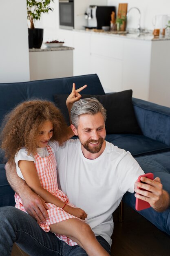
[[[29,213],[40,224],[46,223],[48,213],[46,212],[46,204],[42,198],[35,194],[30,187],[22,180],[16,173],[15,163],[5,165],[7,180],[12,189],[20,195],[23,206],[27,213]]]

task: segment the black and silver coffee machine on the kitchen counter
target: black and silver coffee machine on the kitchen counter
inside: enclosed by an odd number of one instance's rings
[[[116,13],[115,6],[90,5],[84,13],[87,20],[86,28],[102,29],[103,26],[110,26],[112,11]]]

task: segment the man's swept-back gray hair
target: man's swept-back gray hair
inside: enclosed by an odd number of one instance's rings
[[[80,115],[95,115],[98,112],[101,112],[105,122],[106,109],[96,98],[80,99],[76,101],[71,108],[71,122],[77,129]]]

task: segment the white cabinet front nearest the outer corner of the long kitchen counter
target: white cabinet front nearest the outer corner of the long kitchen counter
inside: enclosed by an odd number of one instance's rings
[[[133,97],[144,100],[149,99],[151,48],[152,41],[124,39],[122,90],[132,89]]]

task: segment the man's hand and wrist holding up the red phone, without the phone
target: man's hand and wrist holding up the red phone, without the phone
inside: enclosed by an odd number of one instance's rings
[[[135,197],[148,202],[155,211],[165,211],[170,206],[170,195],[163,189],[159,177],[154,180],[141,177],[141,181],[146,184],[135,182]],[[137,189],[137,186],[146,191]]]

